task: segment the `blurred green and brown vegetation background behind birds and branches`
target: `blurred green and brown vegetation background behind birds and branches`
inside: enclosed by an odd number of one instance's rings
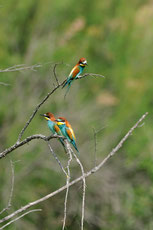
[[[0,73],[0,149],[14,144],[35,106],[53,88],[53,66],[60,81],[80,57],[85,72],[103,78],[75,81],[66,100],[59,89],[41,107],[24,133],[49,135],[39,113],[65,116],[72,124],[85,170],[95,165],[146,111],[149,116],[123,148],[87,179],[85,230],[153,229],[153,4],[150,0],[1,0],[0,69],[41,63],[37,71]],[[102,129],[102,130],[101,130]],[[23,138],[24,138],[23,137]],[[65,166],[67,156],[57,140],[52,147]],[[15,162],[12,212],[65,184],[65,176],[46,143],[32,141],[0,161],[0,208],[8,201],[9,159]],[[71,179],[81,174],[73,161]],[[66,229],[80,229],[82,187],[71,187]],[[9,230],[59,230],[65,192],[37,206]],[[3,216],[3,215],[2,215]]]

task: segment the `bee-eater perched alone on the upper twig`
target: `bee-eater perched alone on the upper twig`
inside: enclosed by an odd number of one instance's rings
[[[84,67],[87,65],[87,60],[85,58],[80,58],[80,60],[78,61],[78,63],[73,67],[73,69],[71,70],[67,80],[65,81],[64,85],[62,88],[64,88],[66,85],[67,87],[67,91],[66,94],[72,84],[72,81],[74,79],[76,79],[84,70]],[[65,94],[65,96],[66,96]]]

